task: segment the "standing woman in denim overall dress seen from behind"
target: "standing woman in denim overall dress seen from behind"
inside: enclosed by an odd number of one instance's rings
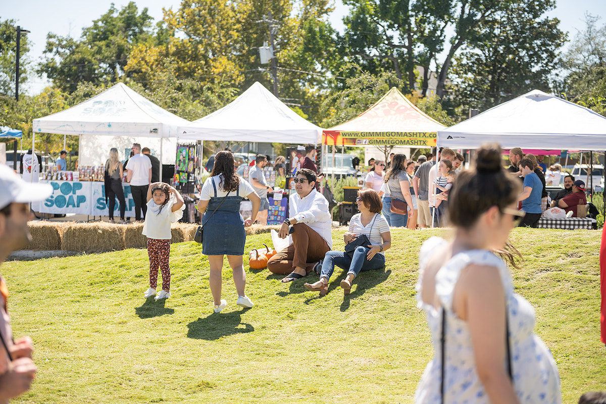
[[[233,282],[238,292],[236,304],[247,308],[253,306],[253,302],[244,293],[246,286],[242,260],[246,242],[244,227],[250,226],[253,222],[250,218],[242,219],[240,214],[240,202],[244,196],[252,202],[252,217],[256,217],[261,198],[248,182],[235,173],[231,153],[219,151],[215,156],[213,172],[204,182],[198,201],[198,210],[203,214],[202,224],[204,224],[202,254],[208,256],[210,265],[210,291],[213,294],[215,313],[219,313],[227,305],[227,301],[221,299],[223,256],[227,256],[233,272]]]

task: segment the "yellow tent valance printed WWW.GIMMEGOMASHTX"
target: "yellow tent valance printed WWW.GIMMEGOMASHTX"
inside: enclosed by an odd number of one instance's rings
[[[325,145],[344,146],[405,146],[431,148],[436,146],[435,132],[329,132],[322,134]]]

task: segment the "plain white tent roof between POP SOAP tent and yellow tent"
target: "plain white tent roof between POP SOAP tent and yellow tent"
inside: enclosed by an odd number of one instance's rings
[[[204,118],[178,127],[179,139],[201,141],[313,143],[322,128],[288,108],[259,82]]]

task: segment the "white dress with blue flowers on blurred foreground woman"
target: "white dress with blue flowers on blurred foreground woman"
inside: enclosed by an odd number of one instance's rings
[[[442,310],[422,302],[420,285],[427,260],[445,246],[446,241],[431,237],[421,247],[417,302],[427,315],[435,357],[421,377],[415,393],[416,403],[440,403],[441,400],[441,329]],[[498,268],[507,297],[509,341],[513,386],[521,403],[553,404],[562,402],[560,378],[551,352],[533,334],[534,310],[523,297],[513,292],[513,281],[501,258],[486,250],[471,250],[456,254],[436,274],[436,294],[446,313],[446,367],[444,403],[490,403],[488,394],[476,373],[467,323],[452,311],[454,285],[461,270],[471,263]],[[503,366],[507,366],[507,358]]]

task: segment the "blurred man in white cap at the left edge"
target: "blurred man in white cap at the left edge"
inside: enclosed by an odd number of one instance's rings
[[[45,200],[53,193],[48,184],[27,183],[5,165],[0,165],[0,265],[8,255],[32,241],[27,227],[33,219],[30,202]],[[7,312],[8,288],[0,276],[0,402],[18,397],[32,385],[36,365],[30,337],[13,340]]]

